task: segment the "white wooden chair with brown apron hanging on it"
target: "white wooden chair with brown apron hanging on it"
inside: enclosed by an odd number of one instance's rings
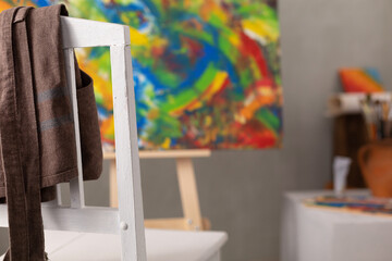
[[[130,28],[62,17],[62,35],[79,175],[70,184],[71,207],[62,204],[59,186],[57,201],[42,204],[49,258],[56,261],[144,261],[147,257],[151,261],[219,261],[225,233],[145,231]],[[84,200],[73,48],[97,46],[110,47],[119,209],[86,207]],[[7,206],[0,206],[0,226],[8,226],[7,216]]]

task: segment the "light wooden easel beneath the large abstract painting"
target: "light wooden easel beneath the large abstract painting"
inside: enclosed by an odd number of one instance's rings
[[[139,151],[140,159],[175,159],[183,217],[145,220],[145,226],[150,228],[208,231],[210,222],[201,216],[197,192],[195,171],[192,158],[207,158],[210,150],[170,150]],[[118,185],[115,175],[115,153],[105,152],[103,158],[110,160],[110,207],[118,206]]]

